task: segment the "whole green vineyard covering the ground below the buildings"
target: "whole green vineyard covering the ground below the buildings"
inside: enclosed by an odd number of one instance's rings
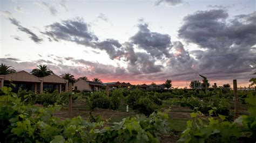
[[[0,142],[255,142],[256,93],[217,88],[35,94],[1,89]],[[129,112],[126,112],[126,106]]]

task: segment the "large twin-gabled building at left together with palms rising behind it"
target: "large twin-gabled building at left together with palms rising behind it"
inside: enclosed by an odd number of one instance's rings
[[[12,87],[13,92],[17,92],[19,88],[42,93],[44,90],[53,92],[68,91],[69,80],[61,78],[50,70],[46,65],[39,65],[30,73],[22,70],[16,72],[11,66],[0,65],[0,88],[4,85],[15,84]]]

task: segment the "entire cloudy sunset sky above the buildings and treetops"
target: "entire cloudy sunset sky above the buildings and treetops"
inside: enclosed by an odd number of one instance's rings
[[[250,84],[256,1],[0,1],[0,63],[103,82]]]

